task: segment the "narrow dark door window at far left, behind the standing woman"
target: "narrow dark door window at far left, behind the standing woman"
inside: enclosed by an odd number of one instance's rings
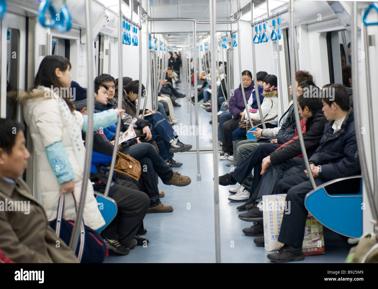
[[[17,93],[19,91],[20,31],[8,28],[6,50],[6,117],[17,120]]]

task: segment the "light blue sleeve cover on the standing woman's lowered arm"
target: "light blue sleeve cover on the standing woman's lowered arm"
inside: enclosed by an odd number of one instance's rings
[[[59,184],[63,184],[75,178],[63,142],[54,142],[54,144],[46,147],[45,151]]]

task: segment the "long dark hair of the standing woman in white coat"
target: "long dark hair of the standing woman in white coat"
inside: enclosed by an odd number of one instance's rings
[[[34,79],[34,88],[37,88],[39,85],[50,88],[51,85],[55,88],[61,88],[62,85],[59,82],[59,79],[56,77],[55,70],[59,68],[61,71],[66,71],[71,69],[72,65],[70,60],[65,57],[58,55],[49,55],[43,58],[39,69]],[[73,112],[75,106],[68,97],[63,97],[67,102],[68,107]]]

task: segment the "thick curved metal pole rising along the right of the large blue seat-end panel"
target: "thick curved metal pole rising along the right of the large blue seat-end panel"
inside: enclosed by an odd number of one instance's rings
[[[362,24],[363,25],[363,24]],[[372,216],[375,220],[375,224],[378,225],[378,211],[377,206],[375,204],[375,199],[372,191],[372,187],[370,185],[369,180],[369,172],[367,168],[367,161],[366,161],[366,154],[365,154],[365,147],[363,143],[362,134],[359,133],[362,127],[361,122],[361,108],[359,105],[359,99],[358,93],[359,93],[359,83],[358,83],[358,45],[357,45],[357,2],[354,1],[352,4],[352,79],[353,79],[353,111],[354,111],[354,120],[355,120],[355,130],[356,130],[356,140],[357,140],[357,148],[358,148],[358,157],[359,157],[359,163],[361,165],[361,173],[363,176],[363,180],[365,183],[365,187],[367,190],[367,197],[369,199],[370,203],[370,209],[372,211]],[[368,61],[368,59],[367,59]],[[368,78],[369,75],[366,75]],[[369,89],[368,89],[369,91]],[[371,97],[371,96],[370,96]],[[370,123],[372,125],[372,123]],[[374,144],[372,144],[374,145]],[[373,162],[376,160],[373,159]],[[376,172],[375,172],[376,173]]]

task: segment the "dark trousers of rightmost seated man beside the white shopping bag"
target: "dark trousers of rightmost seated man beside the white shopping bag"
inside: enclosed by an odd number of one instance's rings
[[[315,178],[315,184],[321,185],[324,180]],[[281,230],[278,241],[289,246],[302,248],[304,228],[308,211],[304,205],[304,199],[308,192],[313,189],[311,181],[305,172],[287,176],[277,182],[274,188],[275,194],[285,194],[286,201],[290,202],[290,213],[283,214]],[[351,179],[338,182],[326,187],[328,193],[356,193],[359,191],[359,179]],[[321,206],[321,204],[319,204]]]

